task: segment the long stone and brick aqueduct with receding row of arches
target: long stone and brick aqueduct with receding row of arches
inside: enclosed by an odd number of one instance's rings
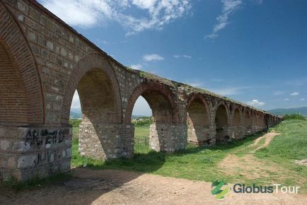
[[[128,69],[34,0],[0,0],[0,180],[70,169],[69,111],[78,90],[79,151],[133,156],[134,102],[153,112],[150,146],[177,151],[252,134],[280,117],[207,90]]]

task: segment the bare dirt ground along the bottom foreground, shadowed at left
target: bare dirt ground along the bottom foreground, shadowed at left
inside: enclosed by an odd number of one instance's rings
[[[222,200],[211,183],[122,170],[74,169],[73,178],[51,187],[0,192],[0,204],[306,204],[299,194],[235,194]]]

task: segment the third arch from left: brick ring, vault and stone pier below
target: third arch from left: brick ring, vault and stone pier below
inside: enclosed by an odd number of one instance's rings
[[[173,93],[161,83],[146,81],[134,89],[128,100],[124,122],[131,124],[132,110],[139,96],[148,102],[153,115],[149,134],[150,147],[155,151],[175,151],[185,148],[187,127],[185,124],[179,124],[178,106]]]

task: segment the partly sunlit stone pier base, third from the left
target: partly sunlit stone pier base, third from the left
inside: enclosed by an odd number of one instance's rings
[[[187,124],[151,124],[149,146],[155,151],[174,152],[187,146]]]

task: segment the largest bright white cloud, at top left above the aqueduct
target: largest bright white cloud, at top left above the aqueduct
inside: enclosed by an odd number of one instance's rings
[[[162,29],[190,11],[190,0],[42,0],[42,5],[69,25],[93,27],[115,21],[127,34]],[[133,16],[131,8],[144,16]]]

